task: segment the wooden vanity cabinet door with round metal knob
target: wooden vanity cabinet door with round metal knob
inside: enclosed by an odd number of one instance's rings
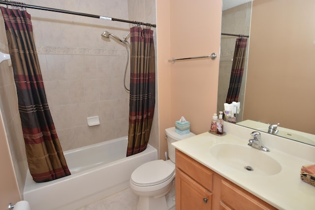
[[[211,210],[212,194],[176,169],[176,210]]]

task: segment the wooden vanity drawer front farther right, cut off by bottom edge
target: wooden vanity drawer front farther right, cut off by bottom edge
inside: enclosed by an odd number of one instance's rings
[[[225,180],[221,180],[221,202],[234,210],[275,210],[273,206]]]

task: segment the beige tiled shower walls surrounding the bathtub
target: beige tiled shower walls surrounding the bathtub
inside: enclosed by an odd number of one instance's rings
[[[31,5],[60,8],[129,20],[156,23],[155,1],[150,0],[21,0]],[[146,9],[147,14],[139,10]],[[134,10],[134,11],[133,11]],[[101,37],[104,30],[123,38],[126,23],[27,9],[32,15],[35,45],[46,96],[63,150],[79,148],[127,135],[129,94],[124,89],[126,48]],[[142,14],[142,17],[139,15]],[[150,16],[149,18],[146,18]],[[138,19],[137,19],[138,18]],[[139,19],[141,18],[141,19]],[[1,28],[4,29],[3,19]],[[155,37],[156,38],[156,37]],[[129,40],[129,39],[128,39]],[[1,51],[7,52],[1,29]],[[20,193],[27,172],[16,89],[11,67],[1,64],[0,108]],[[128,66],[129,68],[129,66]],[[4,71],[2,71],[4,70]],[[126,86],[129,87],[129,71]],[[87,117],[99,116],[100,125],[89,127]],[[150,144],[158,148],[156,108]]]

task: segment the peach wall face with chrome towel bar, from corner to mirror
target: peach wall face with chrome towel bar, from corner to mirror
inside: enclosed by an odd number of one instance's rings
[[[171,121],[185,116],[195,134],[208,131],[217,112],[221,14],[221,0],[171,1],[171,57],[218,54],[216,60],[170,63]]]

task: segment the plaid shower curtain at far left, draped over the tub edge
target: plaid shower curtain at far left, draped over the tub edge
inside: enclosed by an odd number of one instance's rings
[[[25,8],[0,7],[18,95],[26,155],[35,182],[70,175],[47,104],[33,40],[31,15]]]

